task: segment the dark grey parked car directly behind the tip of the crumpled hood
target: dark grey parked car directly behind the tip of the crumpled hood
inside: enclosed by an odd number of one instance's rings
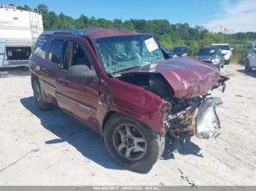
[[[222,50],[216,46],[201,47],[195,58],[211,63],[220,69],[224,66],[224,58],[222,56]]]

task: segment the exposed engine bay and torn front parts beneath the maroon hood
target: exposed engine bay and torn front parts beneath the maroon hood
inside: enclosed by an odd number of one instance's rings
[[[143,87],[172,105],[172,109],[165,119],[167,136],[174,139],[186,139],[195,135],[200,139],[214,139],[217,136],[220,122],[216,106],[222,104],[220,98],[213,98],[211,94],[187,99],[175,98],[173,88],[161,74],[126,74],[118,79]],[[227,79],[227,77],[219,79],[212,90],[222,86],[223,92]]]

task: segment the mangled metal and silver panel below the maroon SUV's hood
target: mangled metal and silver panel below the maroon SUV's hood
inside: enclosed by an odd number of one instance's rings
[[[222,104],[220,98],[206,98],[176,114],[169,114],[165,120],[167,135],[175,139],[197,136],[200,139],[214,139],[220,128],[215,107]]]

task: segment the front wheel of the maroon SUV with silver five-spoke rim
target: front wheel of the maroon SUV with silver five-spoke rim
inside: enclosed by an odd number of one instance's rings
[[[147,171],[165,149],[165,136],[123,114],[114,114],[105,124],[105,147],[116,160],[132,171]]]

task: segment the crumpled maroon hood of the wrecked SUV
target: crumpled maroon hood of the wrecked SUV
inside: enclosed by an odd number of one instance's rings
[[[129,73],[160,73],[174,90],[176,98],[193,98],[208,93],[220,79],[219,71],[211,64],[189,56],[172,58],[160,63],[123,71]]]

